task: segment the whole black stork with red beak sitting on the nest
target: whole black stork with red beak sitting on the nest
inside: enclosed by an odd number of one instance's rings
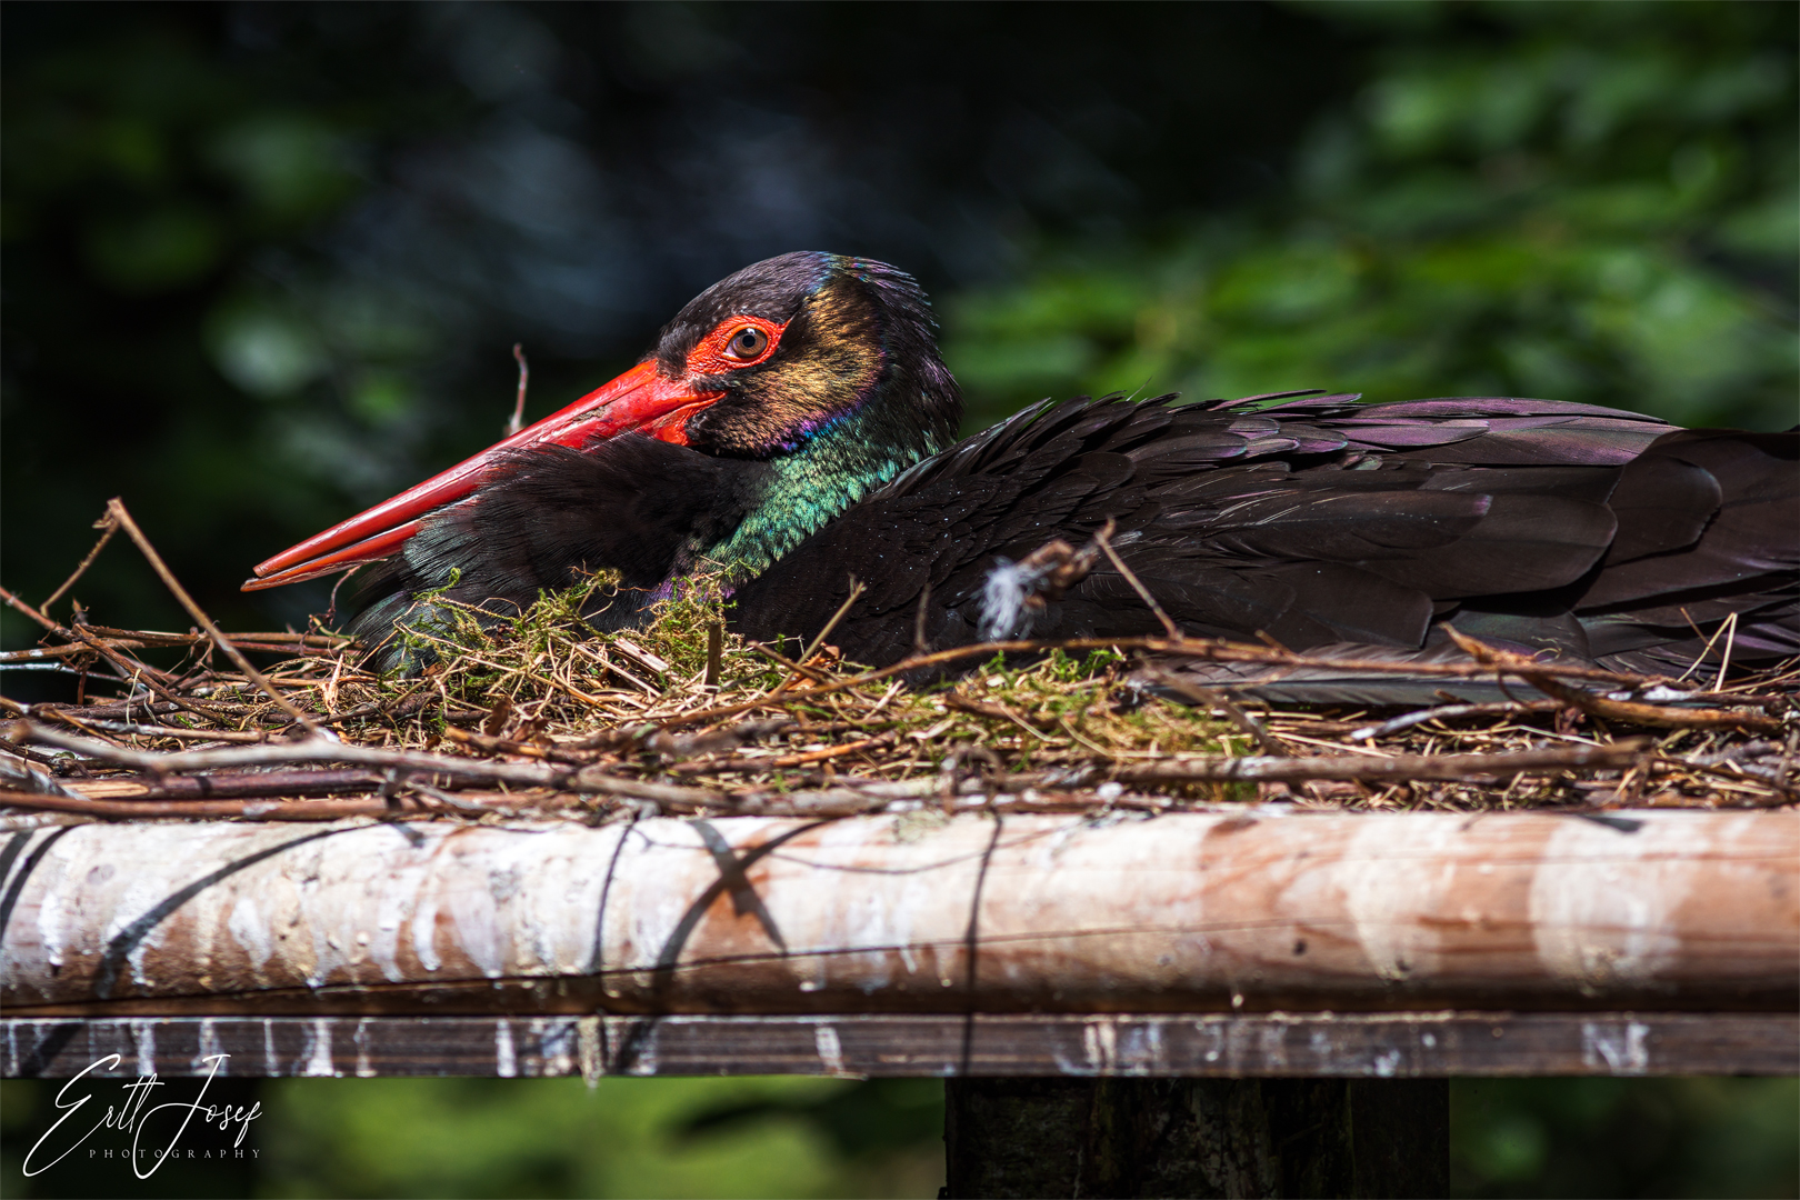
[[[1193,635],[1404,658],[1445,653],[1454,622],[1679,675],[1730,624],[1739,664],[1800,653],[1793,430],[1514,398],[1114,396],[1044,401],[956,443],[961,394],[934,335],[893,266],[756,263],[617,380],[245,588],[378,563],[353,630],[382,644],[439,588],[509,613],[616,570],[592,619],[623,628],[691,572],[724,570],[733,628],[767,640],[815,635],[857,579],[832,642],[889,664],[920,635],[1159,631],[1109,561],[1066,590],[1031,567],[1112,522],[1121,561]]]

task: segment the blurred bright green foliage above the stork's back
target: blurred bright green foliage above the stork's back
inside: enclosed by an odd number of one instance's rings
[[[1069,390],[1309,387],[1800,419],[1791,5],[1314,11],[1382,49],[1283,203],[949,299],[970,428]]]

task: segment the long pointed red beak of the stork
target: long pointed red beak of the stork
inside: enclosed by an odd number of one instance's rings
[[[632,430],[684,446],[688,417],[722,396],[724,392],[695,392],[684,380],[664,380],[657,374],[655,360],[641,362],[562,412],[259,563],[256,578],[247,579],[243,590],[279,588],[284,583],[315,579],[387,558],[419,531],[421,518],[472,497],[509,450],[526,446],[585,450],[596,441]]]

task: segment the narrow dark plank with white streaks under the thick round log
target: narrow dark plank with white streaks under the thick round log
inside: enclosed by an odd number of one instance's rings
[[[7,1078],[56,1079],[194,1076],[211,1054],[261,1078],[1800,1074],[1793,1013],[13,1016],[0,1034]]]

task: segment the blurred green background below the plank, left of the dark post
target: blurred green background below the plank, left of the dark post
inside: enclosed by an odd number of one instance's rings
[[[146,1184],[79,1151],[20,1177],[54,1087],[0,1087],[9,1196],[934,1196],[943,1182],[938,1079],[279,1079],[256,1088],[250,1173],[180,1160]],[[104,1133],[92,1144],[117,1142]]]

